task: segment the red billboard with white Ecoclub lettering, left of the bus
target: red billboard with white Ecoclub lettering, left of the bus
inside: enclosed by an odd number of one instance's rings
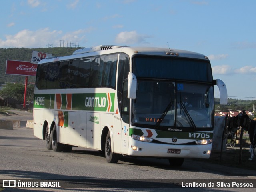
[[[6,72],[10,75],[36,76],[37,64],[27,61],[6,60]]]

